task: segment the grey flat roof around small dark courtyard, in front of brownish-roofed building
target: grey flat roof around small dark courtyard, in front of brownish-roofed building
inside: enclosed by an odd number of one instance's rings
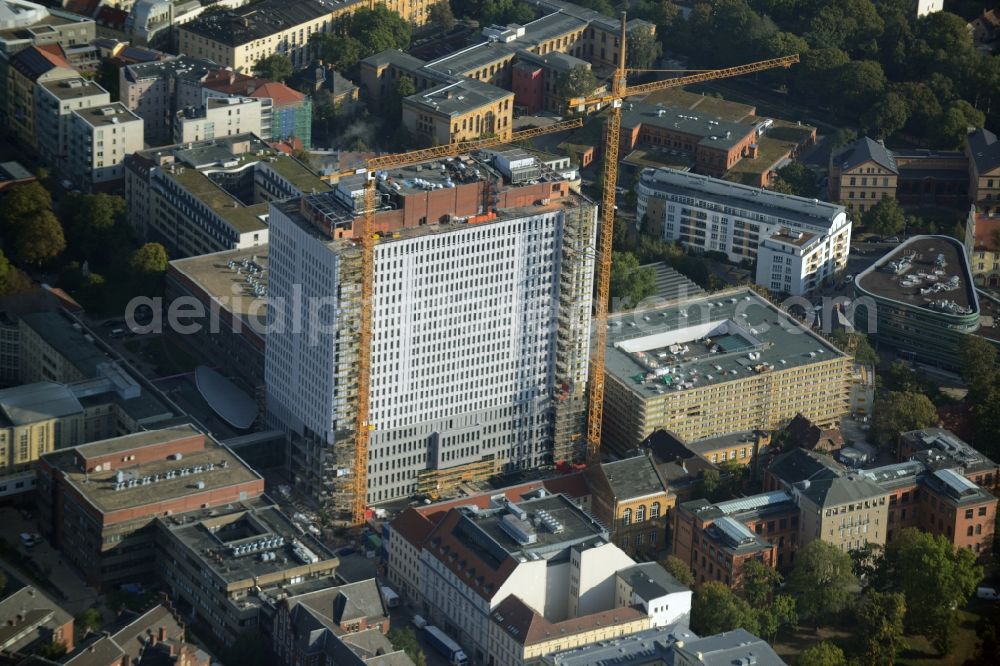
[[[336,566],[334,554],[278,507],[260,497],[242,504],[219,516],[162,518],[161,525],[227,584],[319,562]],[[265,560],[262,553],[274,557]],[[235,601],[261,603],[259,597]]]

